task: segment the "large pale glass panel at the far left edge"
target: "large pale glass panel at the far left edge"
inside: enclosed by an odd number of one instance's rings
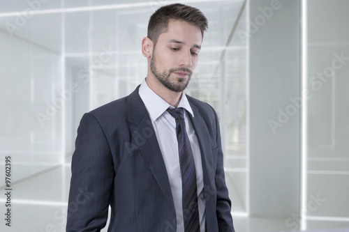
[[[36,167],[22,167],[16,179],[62,162],[60,28],[61,15],[36,15],[12,34],[0,31],[1,154]]]

